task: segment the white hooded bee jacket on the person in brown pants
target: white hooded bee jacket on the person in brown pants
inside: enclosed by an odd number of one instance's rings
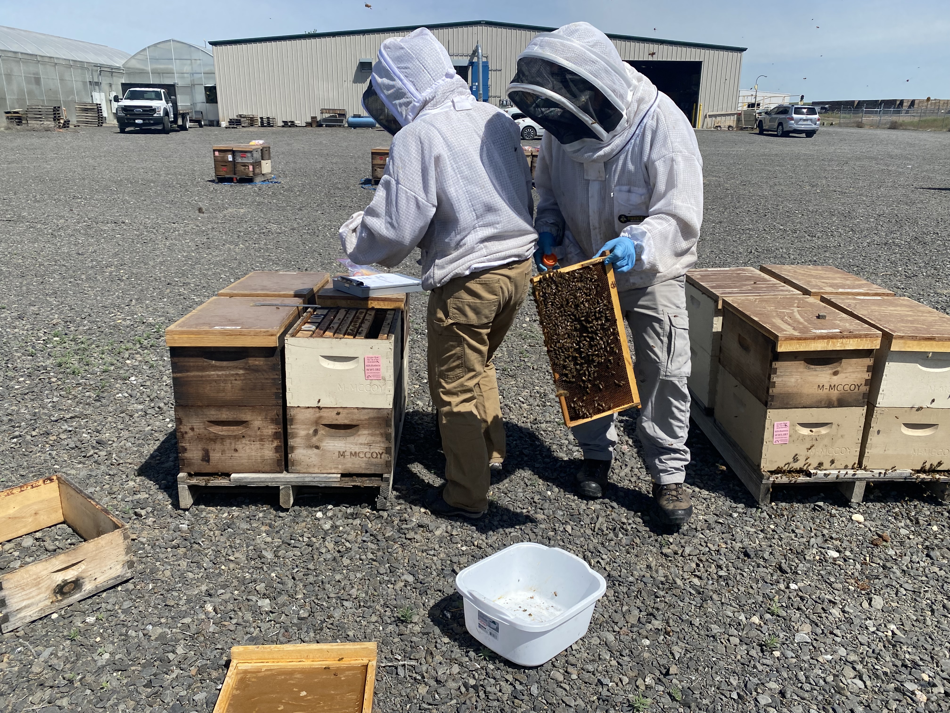
[[[419,247],[431,290],[531,256],[534,199],[518,126],[475,101],[428,29],[383,43],[364,106],[398,133],[370,206],[341,229],[351,260],[395,267]]]

